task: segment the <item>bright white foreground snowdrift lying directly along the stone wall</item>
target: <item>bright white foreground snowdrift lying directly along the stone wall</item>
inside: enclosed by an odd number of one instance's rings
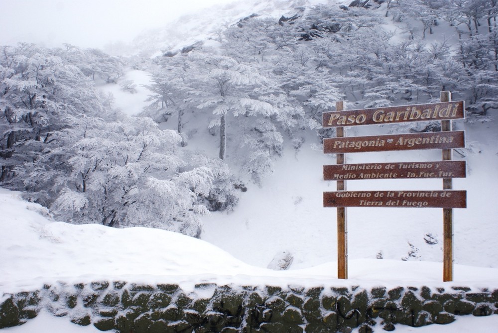
[[[273,271],[246,264],[206,241],[169,231],[55,222],[44,208],[21,200],[19,193],[3,189],[0,190],[0,210],[0,294],[34,290],[55,281],[90,282],[116,277],[151,284],[174,282],[184,289],[206,281],[281,286],[289,283],[314,286],[335,281],[337,285],[367,288],[378,284],[434,287],[464,284],[478,290],[496,288],[498,276],[496,268],[457,264],[455,282],[443,283],[441,263],[353,259],[350,260],[350,279],[337,280],[333,260],[310,268]],[[239,239],[245,237],[244,233],[238,236]],[[396,331],[488,332],[487,328],[497,325],[498,316],[469,316],[459,317],[446,327],[433,325],[413,329],[399,326]],[[476,328],[481,329],[476,331]],[[97,332],[94,327],[82,328],[71,324],[68,318],[55,318],[46,313],[20,327],[2,330],[16,333],[34,331]]]

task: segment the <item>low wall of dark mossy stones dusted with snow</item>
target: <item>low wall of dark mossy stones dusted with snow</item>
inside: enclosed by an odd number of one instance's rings
[[[4,294],[0,329],[20,325],[41,309],[75,324],[123,333],[360,333],[394,324],[449,324],[455,316],[498,314],[498,289],[467,287],[285,288],[197,284],[144,285],[125,281],[45,285]]]

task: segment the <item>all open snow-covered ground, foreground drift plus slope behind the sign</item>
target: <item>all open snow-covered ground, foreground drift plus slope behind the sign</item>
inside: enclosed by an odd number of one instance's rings
[[[134,73],[144,77],[143,73]],[[114,93],[122,98],[115,85]],[[138,97],[145,94],[137,94]],[[130,105],[131,106],[131,105]],[[135,107],[133,107],[135,108]],[[136,110],[136,109],[135,109]],[[124,110],[133,113],[131,107]],[[461,126],[461,125],[460,125]],[[496,122],[466,124],[468,177],[455,179],[454,189],[467,190],[468,208],[454,210],[455,281],[442,280],[442,214],[440,209],[349,209],[349,279],[336,279],[335,209],[322,207],[322,192],[335,182],[322,180],[322,165],[333,164],[309,139],[295,153],[287,149],[275,160],[275,172],[262,187],[249,184],[231,213],[204,219],[202,239],[148,228],[116,229],[53,221],[47,210],[0,190],[0,294],[33,290],[64,280],[90,282],[115,278],[136,282],[174,282],[183,288],[212,281],[234,284],[290,282],[304,286],[337,285],[466,285],[475,290],[497,288],[498,130]],[[350,129],[351,135],[355,134]],[[195,147],[192,135],[189,146]],[[439,152],[349,154],[349,162],[437,160]],[[440,189],[440,180],[348,182],[355,189]],[[438,243],[427,244],[431,233]],[[408,245],[413,244],[413,247]],[[410,249],[416,249],[413,256]],[[287,271],[267,269],[275,254],[294,255]],[[376,256],[381,253],[383,259]],[[402,258],[408,260],[404,261]],[[447,326],[397,326],[396,332],[490,332],[498,316],[458,317]],[[48,331],[43,331],[44,328]],[[41,313],[27,324],[2,332],[97,332],[67,318]]]

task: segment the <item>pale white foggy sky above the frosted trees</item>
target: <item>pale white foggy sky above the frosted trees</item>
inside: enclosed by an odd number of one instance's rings
[[[130,42],[182,14],[234,0],[0,0],[0,45]]]

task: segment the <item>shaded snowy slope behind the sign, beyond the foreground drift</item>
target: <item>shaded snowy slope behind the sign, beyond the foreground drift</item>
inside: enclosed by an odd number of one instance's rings
[[[131,71],[146,84],[147,74]],[[123,79],[123,80],[124,80]],[[130,95],[112,84],[103,88],[117,101],[144,100],[145,91]],[[122,103],[127,114],[139,110],[136,103]],[[453,153],[454,160],[467,161],[467,178],[453,180],[455,190],[467,191],[467,208],[454,209],[454,260],[457,264],[498,268],[498,206],[494,192],[498,184],[498,119],[490,122],[455,122],[466,131],[466,149]],[[166,123],[164,124],[165,126]],[[174,125],[174,122],[169,125]],[[196,128],[188,124],[188,128]],[[391,125],[393,126],[393,125]],[[395,125],[394,125],[395,126]],[[392,127],[391,127],[392,129]],[[374,135],[389,126],[349,128],[347,135]],[[212,139],[209,137],[209,139]],[[216,155],[216,145],[206,144],[203,132],[191,132],[184,149]],[[464,156],[462,156],[462,154]],[[440,150],[347,154],[348,163],[437,161]],[[335,191],[334,181],[323,180],[323,165],[335,164],[335,156],[323,154],[315,137],[308,137],[299,151],[292,147],[274,158],[274,172],[261,186],[248,183],[233,212],[213,212],[204,217],[201,239],[236,258],[266,268],[274,256],[290,252],[290,269],[308,268],[337,256],[336,210],[323,208],[322,193]],[[348,181],[349,190],[441,190],[440,179]],[[442,209],[349,208],[349,258],[442,262]],[[335,274],[335,269],[332,270]],[[438,272],[439,274],[439,272]]]

